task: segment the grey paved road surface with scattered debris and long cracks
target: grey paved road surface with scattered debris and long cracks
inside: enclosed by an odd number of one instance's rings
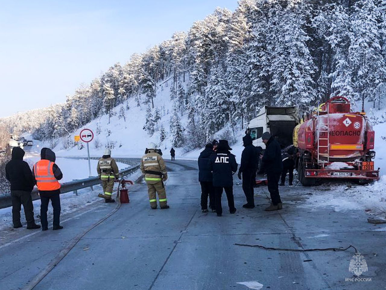
[[[247,283],[254,289],[384,289],[386,226],[367,223],[363,210],[336,211],[315,202],[319,194],[325,202],[327,191],[344,193],[341,187],[281,188],[283,210],[264,212],[266,187],[255,189],[258,206],[246,210],[241,185],[235,184],[237,213],[224,210],[220,218],[201,213],[196,162],[167,165],[170,210],[151,210],[146,185],[136,184],[131,202],[86,234],[34,289],[242,290],[248,288],[239,282],[248,281],[255,281]],[[25,238],[30,231],[8,233],[0,242],[0,289],[25,286],[73,237],[114,207],[91,203],[63,217],[61,231],[36,231]],[[360,278],[371,281],[345,281],[355,278],[348,270],[352,249],[273,251],[235,243],[291,249],[353,245],[368,266]]]

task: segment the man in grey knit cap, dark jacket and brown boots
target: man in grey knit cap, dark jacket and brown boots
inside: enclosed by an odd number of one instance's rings
[[[262,156],[262,162],[267,174],[268,191],[271,194],[271,205],[265,210],[280,210],[283,208],[279,194],[279,179],[281,172],[283,171],[280,144],[269,132],[263,133],[262,140],[266,145],[264,156]]]

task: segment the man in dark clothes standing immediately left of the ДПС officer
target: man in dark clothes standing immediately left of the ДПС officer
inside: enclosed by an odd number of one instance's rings
[[[201,184],[202,212],[208,212],[208,196],[209,208],[212,209],[212,212],[216,212],[213,174],[209,169],[209,158],[212,154],[214,154],[213,145],[208,143],[205,145],[205,149],[200,153],[200,157],[198,157],[198,181],[200,181]]]

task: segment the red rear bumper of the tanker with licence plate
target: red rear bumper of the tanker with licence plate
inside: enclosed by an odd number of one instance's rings
[[[379,170],[305,169],[306,178],[379,179]]]

